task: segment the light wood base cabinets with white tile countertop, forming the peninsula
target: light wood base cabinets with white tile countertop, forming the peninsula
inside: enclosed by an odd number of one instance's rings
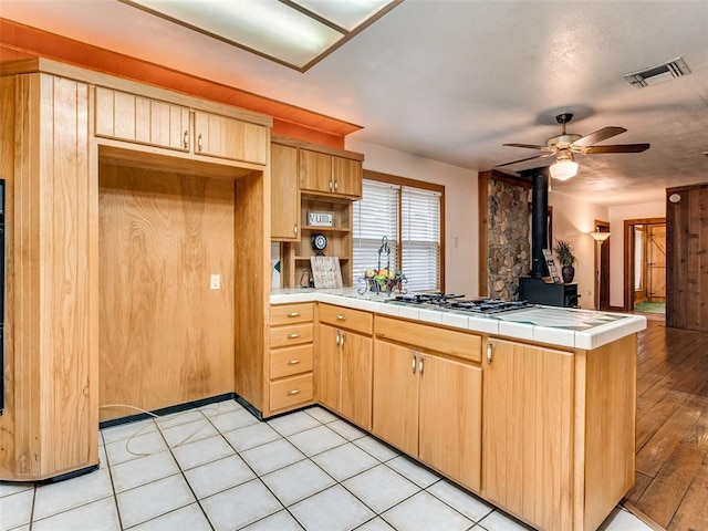
[[[271,391],[332,409],[538,530],[594,531],[634,485],[643,316],[470,314],[356,288],[277,290],[270,303],[271,360],[301,352],[282,336],[314,352]]]

